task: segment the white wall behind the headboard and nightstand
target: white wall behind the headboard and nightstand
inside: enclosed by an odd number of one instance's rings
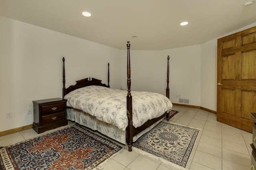
[[[89,76],[107,84],[108,62],[120,86],[120,50],[1,16],[0,25],[0,131],[31,125],[33,100],[62,98],[62,57],[66,87]]]

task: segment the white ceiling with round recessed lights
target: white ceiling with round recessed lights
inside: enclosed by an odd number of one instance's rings
[[[0,0],[0,15],[117,49],[130,41],[131,50],[163,50],[202,44],[256,22],[256,2],[244,7],[246,2]]]

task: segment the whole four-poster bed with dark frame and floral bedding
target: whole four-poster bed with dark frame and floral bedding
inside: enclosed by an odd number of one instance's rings
[[[127,44],[127,88],[111,89],[96,78],[76,81],[65,88],[65,59],[63,57],[63,98],[67,99],[67,119],[97,130],[100,133],[126,143],[132,151],[132,142],[152,129],[172,109],[169,100],[169,56],[167,62],[166,96],[151,92],[131,92],[130,43]],[[132,98],[133,94],[133,98]],[[134,112],[134,113],[133,113]],[[166,113],[166,114],[165,114]]]

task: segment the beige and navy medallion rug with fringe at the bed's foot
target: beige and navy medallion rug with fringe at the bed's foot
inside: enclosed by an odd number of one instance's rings
[[[163,120],[135,141],[133,150],[158,159],[170,165],[171,169],[184,170],[199,130]]]

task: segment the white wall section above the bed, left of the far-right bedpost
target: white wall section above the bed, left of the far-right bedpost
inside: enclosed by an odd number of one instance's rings
[[[132,48],[132,44],[131,44]],[[131,90],[165,94],[167,56],[159,51],[130,51]],[[122,87],[127,90],[127,51],[122,50]]]

